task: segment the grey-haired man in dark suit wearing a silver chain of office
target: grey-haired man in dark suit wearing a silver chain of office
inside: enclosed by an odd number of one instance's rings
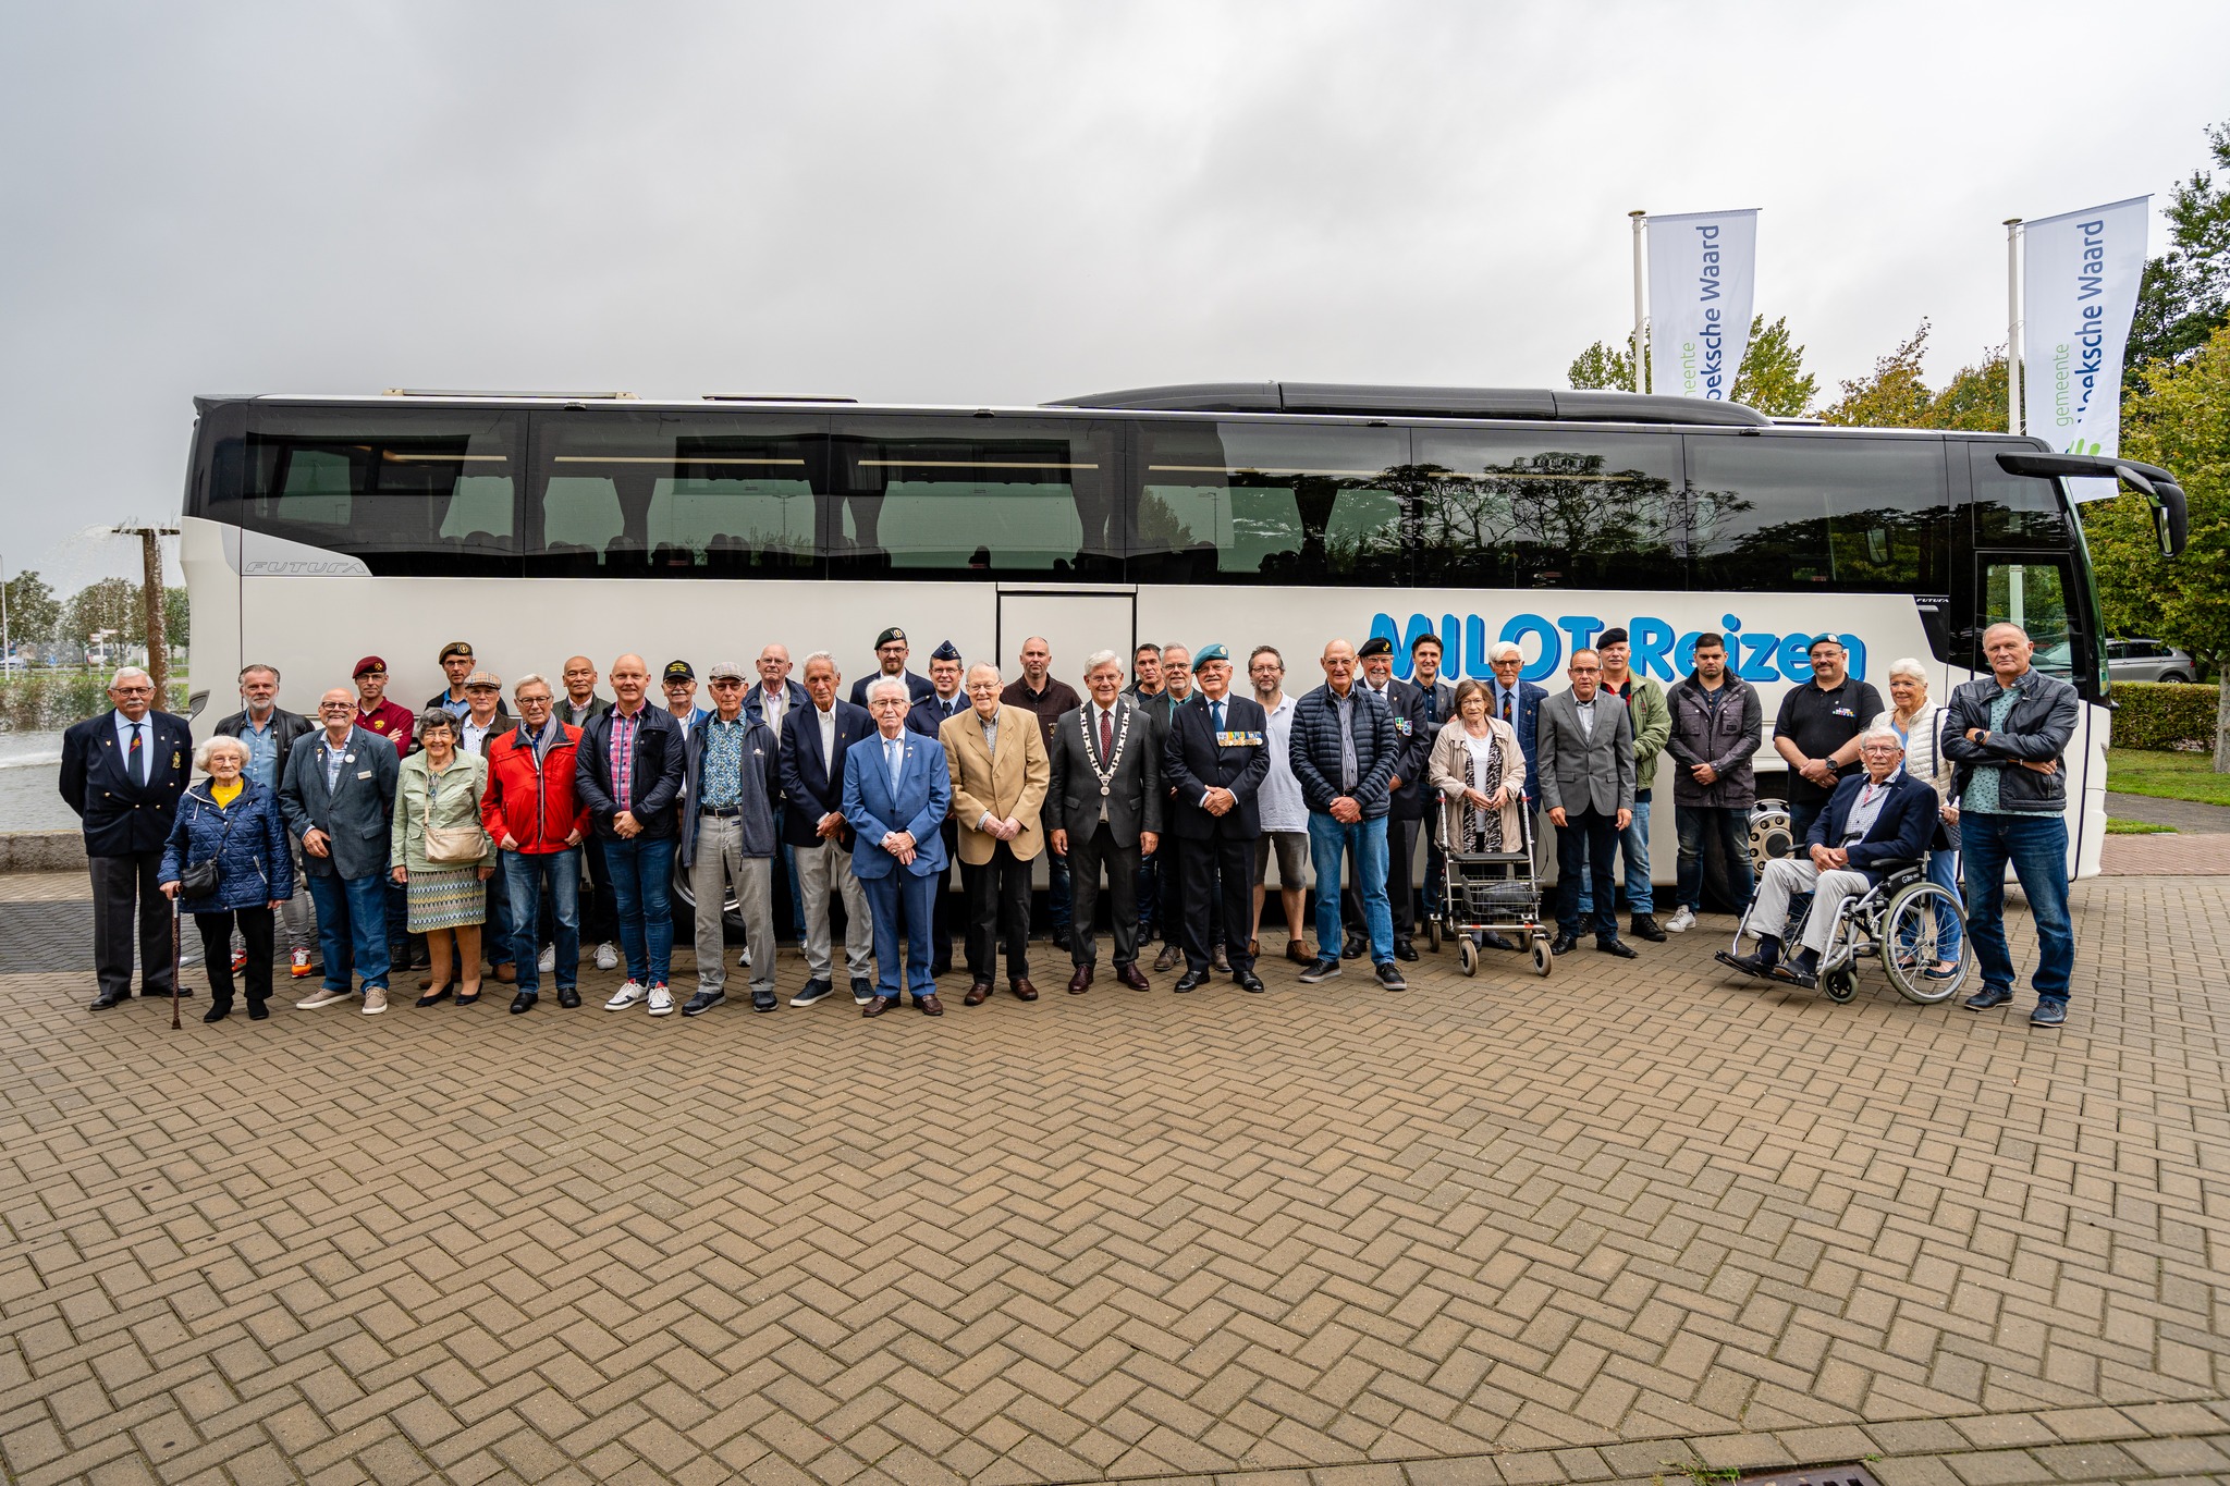
[[[1137,864],[1162,844],[1162,751],[1153,717],[1122,688],[1122,657],[1097,651],[1084,657],[1086,702],[1053,724],[1053,786],[1046,815],[1053,851],[1068,858],[1073,913],[1068,956],[1075,974],[1068,994],[1082,996],[1099,967],[1093,931],[1099,913],[1099,869],[1108,873],[1115,931],[1115,980],[1151,989],[1137,967]]]

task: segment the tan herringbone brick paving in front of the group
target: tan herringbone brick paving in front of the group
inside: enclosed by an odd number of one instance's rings
[[[2230,1479],[2230,880],[2076,916],[2056,1034],[1728,985],[1701,931],[876,1023],[607,1016],[591,976],[172,1034],[0,976],[0,1461]]]

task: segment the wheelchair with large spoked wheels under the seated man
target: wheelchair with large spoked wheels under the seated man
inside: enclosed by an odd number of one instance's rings
[[[1965,989],[1971,965],[1967,907],[1956,893],[1927,880],[1922,860],[1891,860],[1880,862],[1880,867],[1882,880],[1864,893],[1844,898],[1835,911],[1835,927],[1829,931],[1826,949],[1820,951],[1820,994],[1838,1005],[1851,1000],[1858,996],[1860,960],[1878,960],[1889,982],[1907,1000],[1922,1007],[1951,1000]],[[1759,884],[1764,884],[1762,876]],[[1791,896],[1788,927],[1780,933],[1784,954],[1795,954],[1795,947],[1802,945],[1813,902],[1813,893]],[[1715,956],[1722,965],[1742,954],[1742,936],[1751,931],[1753,907],[1757,907],[1757,893],[1751,893],[1751,905],[1742,909],[1733,942]],[[1940,945],[1951,938],[1953,929],[1958,931],[1960,958],[1951,974],[1938,976],[1933,965],[1945,958]],[[1780,978],[1775,976],[1775,980]],[[1802,982],[1782,980],[1782,985],[1800,987]]]

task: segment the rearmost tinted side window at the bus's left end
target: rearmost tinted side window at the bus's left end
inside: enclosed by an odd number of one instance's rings
[[[239,524],[379,575],[517,573],[517,434],[508,412],[256,405]]]

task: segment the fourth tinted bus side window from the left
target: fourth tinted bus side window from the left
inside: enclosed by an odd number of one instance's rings
[[[1409,432],[1336,423],[1142,423],[1137,581],[1409,584]]]

